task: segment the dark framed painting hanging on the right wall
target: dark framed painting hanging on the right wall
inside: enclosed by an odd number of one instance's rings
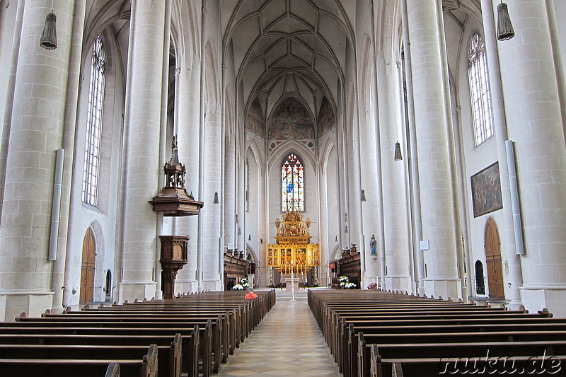
[[[473,216],[478,217],[503,208],[499,163],[472,175]]]

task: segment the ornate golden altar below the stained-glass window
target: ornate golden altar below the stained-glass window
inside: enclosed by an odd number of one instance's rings
[[[299,211],[285,212],[283,222],[277,219],[277,243],[267,245],[267,267],[275,267],[282,275],[307,274],[320,266],[320,245],[311,243],[308,228],[311,220],[303,221]],[[315,277],[316,278],[316,277]]]

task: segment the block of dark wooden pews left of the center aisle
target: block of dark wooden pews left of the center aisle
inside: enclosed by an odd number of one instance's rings
[[[275,305],[275,291],[207,291],[0,322],[0,376],[208,377]]]

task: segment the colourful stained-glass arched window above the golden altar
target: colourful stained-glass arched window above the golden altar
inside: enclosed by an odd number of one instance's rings
[[[281,166],[281,198],[283,212],[305,210],[303,163],[294,153]]]

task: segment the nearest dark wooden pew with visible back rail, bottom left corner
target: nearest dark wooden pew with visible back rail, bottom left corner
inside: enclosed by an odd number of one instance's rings
[[[108,376],[110,364],[120,364],[122,377],[157,377],[158,376],[158,350],[151,344],[147,353],[139,360],[103,360],[103,359],[0,359],[2,376],[23,377],[100,377]],[[111,369],[115,373],[115,368]]]

